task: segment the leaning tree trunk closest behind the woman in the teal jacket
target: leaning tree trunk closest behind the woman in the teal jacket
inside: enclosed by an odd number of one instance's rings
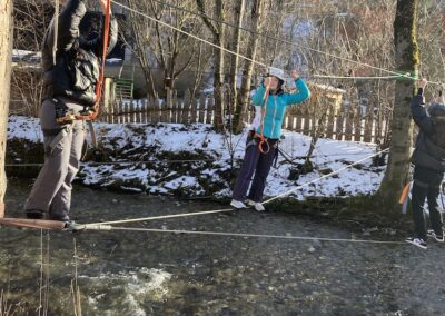
[[[253,33],[249,38],[249,43],[247,46],[247,57],[255,60],[257,55],[257,47],[258,47],[258,33],[261,29],[261,18],[263,18],[263,10],[264,10],[264,1],[263,0],[255,0],[251,9],[251,29]],[[239,89],[239,102],[235,110],[234,117],[234,127],[235,132],[240,132],[244,128],[244,118],[247,115],[247,110],[250,105],[250,85],[251,85],[251,75],[254,72],[254,62],[250,60],[246,60],[244,63],[243,70],[243,79],[241,79],[241,87]]]

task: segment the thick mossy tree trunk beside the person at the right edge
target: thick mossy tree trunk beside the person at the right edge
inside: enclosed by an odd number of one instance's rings
[[[411,73],[417,73],[418,69],[416,23],[417,0],[397,0],[394,21],[396,67],[398,70]],[[377,199],[388,210],[394,210],[396,207],[397,198],[408,178],[409,155],[413,145],[413,122],[409,110],[413,91],[414,81],[398,80],[396,82],[388,165],[377,194]]]

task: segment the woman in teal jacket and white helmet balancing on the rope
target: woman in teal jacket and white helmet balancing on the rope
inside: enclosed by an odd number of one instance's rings
[[[286,108],[290,105],[301,103],[310,97],[306,82],[298,77],[297,71],[293,70],[290,76],[295,80],[296,92],[284,92],[283,70],[270,67],[269,75],[253,96],[255,118],[247,137],[244,162],[234,187],[230,205],[235,208],[246,208],[245,203],[247,203],[258,211],[265,210],[261,204],[263,192],[266,187],[266,178],[277,155]]]

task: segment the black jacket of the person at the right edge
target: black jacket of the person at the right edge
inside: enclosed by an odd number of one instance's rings
[[[445,171],[445,149],[437,146],[433,120],[426,115],[423,96],[415,96],[411,102],[413,119],[419,127],[412,162],[436,171]]]

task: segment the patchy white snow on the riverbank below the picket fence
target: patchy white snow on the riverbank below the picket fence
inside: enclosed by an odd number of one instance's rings
[[[111,149],[126,148],[131,144],[131,148],[156,148],[157,152],[190,152],[195,155],[206,154],[207,158],[212,157],[212,167],[202,170],[199,177],[216,179],[218,171],[230,169],[230,150],[227,144],[234,148],[235,161],[239,162],[244,157],[246,134],[235,136],[224,136],[212,131],[211,126],[195,124],[184,126],[180,124],[158,124],[158,125],[111,125],[96,122],[96,134],[99,141],[103,141],[106,147]],[[9,119],[8,139],[24,138],[30,141],[41,141],[39,120],[27,117],[12,116]],[[284,131],[284,139],[279,148],[290,157],[304,156],[310,145],[310,138],[291,131]],[[297,181],[289,180],[289,172],[293,166],[285,161],[283,156],[278,157],[277,168],[273,168],[267,179],[265,190],[266,196],[283,195],[294,190],[297,186],[315,180],[323,176],[320,171],[337,170],[354,161],[360,160],[375,152],[375,146],[370,144],[338,141],[332,139],[320,139],[316,145],[312,161],[317,170],[307,175],[301,175]],[[150,160],[149,155],[141,157],[140,160]],[[295,160],[303,162],[303,160]],[[329,170],[330,169],[330,170]],[[98,182],[105,174],[110,174],[110,166],[85,165],[82,171],[87,175],[83,179],[86,185]],[[342,171],[338,176],[329,177],[304,188],[293,191],[294,196],[303,199],[307,196],[355,196],[374,192],[383,178],[385,167],[372,167],[372,161],[366,160],[356,168]],[[326,174],[326,171],[324,172]],[[118,171],[112,171],[112,178],[118,180],[136,179],[147,185],[147,191],[152,194],[167,194],[176,188],[188,187],[202,191],[198,179],[190,175],[176,176],[175,171],[166,175],[168,180],[162,186],[150,186],[150,179],[156,176],[154,170],[137,168],[135,165],[128,167],[120,166]],[[158,179],[159,180],[159,179]],[[228,197],[231,190],[221,187],[216,196]]]

